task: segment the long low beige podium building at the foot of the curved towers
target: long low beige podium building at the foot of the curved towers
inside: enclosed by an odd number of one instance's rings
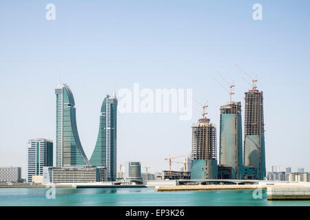
[[[45,167],[44,173],[48,173],[50,181],[54,184],[90,183],[96,181],[107,181],[107,173],[105,167],[96,167],[96,166]]]

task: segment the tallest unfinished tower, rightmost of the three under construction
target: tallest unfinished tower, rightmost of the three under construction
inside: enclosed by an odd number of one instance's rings
[[[265,130],[262,91],[253,88],[245,92],[245,138],[243,163],[255,168],[256,179],[266,177]],[[280,170],[278,170],[279,172]]]

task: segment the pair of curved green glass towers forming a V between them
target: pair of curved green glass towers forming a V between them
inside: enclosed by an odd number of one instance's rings
[[[56,166],[105,166],[108,180],[116,179],[117,99],[103,100],[98,140],[90,160],[87,159],[76,126],[76,108],[71,89],[61,84],[56,94]]]

